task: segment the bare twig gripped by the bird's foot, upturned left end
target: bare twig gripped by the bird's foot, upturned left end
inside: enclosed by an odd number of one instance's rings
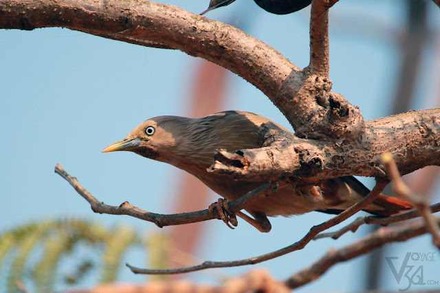
[[[111,206],[108,204],[104,204],[103,202],[100,202],[99,200],[94,198],[94,196],[92,196],[89,191],[87,191],[87,189],[80,185],[75,177],[70,176],[60,164],[56,164],[55,173],[65,178],[65,180],[67,180],[67,182],[72,185],[72,187],[74,187],[76,192],[78,192],[80,196],[82,196],[85,200],[87,200],[87,202],[89,202],[91,210],[95,213],[108,213],[110,215],[131,215],[134,218],[153,222],[160,228],[162,228],[163,226],[201,222],[218,217],[217,209],[214,209],[212,215],[210,215],[208,209],[203,211],[194,211],[190,213],[175,213],[170,215],[163,215],[159,213],[150,213],[148,211],[144,211],[142,209],[134,207],[132,204],[129,204],[129,202],[123,202],[122,204],[120,204],[119,207]],[[247,204],[252,204],[252,202],[259,200],[259,198],[272,194],[272,191],[278,188],[278,186],[279,183],[277,182],[266,183],[261,187],[248,192],[248,194],[241,196],[241,198],[229,202],[229,209],[230,211],[232,211],[232,213],[239,211]]]

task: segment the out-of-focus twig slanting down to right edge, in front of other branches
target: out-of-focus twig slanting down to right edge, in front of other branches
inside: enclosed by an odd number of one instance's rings
[[[428,232],[432,235],[432,244],[440,249],[440,229],[437,222],[434,221],[434,216],[431,213],[429,201],[426,197],[412,192],[401,179],[397,165],[390,153],[385,153],[382,156],[382,161],[388,169],[388,174],[393,179],[393,191],[397,196],[404,198],[411,202],[415,209],[419,211],[421,216],[425,219]]]

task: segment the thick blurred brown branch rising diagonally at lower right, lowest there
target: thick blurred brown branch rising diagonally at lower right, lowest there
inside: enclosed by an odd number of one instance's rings
[[[433,218],[437,224],[440,222],[440,217]],[[425,221],[417,220],[405,226],[394,226],[393,228],[380,228],[379,230],[363,237],[362,239],[345,246],[338,250],[329,250],[329,252],[313,263],[308,268],[301,270],[287,279],[285,283],[289,288],[298,288],[311,281],[316,280],[324,274],[331,266],[342,261],[348,261],[359,255],[369,253],[375,248],[382,246],[389,242],[403,242],[407,239],[417,237],[428,232],[428,225]]]

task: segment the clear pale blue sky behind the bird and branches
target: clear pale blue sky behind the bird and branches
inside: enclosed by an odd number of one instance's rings
[[[208,5],[208,1],[162,2],[180,5],[191,12],[201,12]],[[333,91],[360,106],[365,119],[386,116],[391,104],[399,60],[394,37],[404,23],[401,3],[404,2],[341,0],[331,10]],[[440,10],[431,3],[432,28],[440,27],[439,14]],[[307,66],[309,58],[308,15],[309,8],[275,16],[259,9],[252,0],[236,1],[206,14],[220,21],[233,19],[232,24],[241,25],[245,32],[272,45],[301,68]],[[437,51],[433,49],[435,44]],[[430,99],[439,94],[438,44],[437,30],[423,55],[414,109],[432,107]],[[154,224],[126,216],[92,213],[87,202],[53,170],[56,163],[61,163],[108,204],[129,200],[148,211],[170,212],[167,202],[172,200],[175,186],[167,178],[177,176],[177,169],[135,154],[100,151],[149,117],[186,115],[189,84],[197,61],[179,51],[144,48],[61,28],[32,32],[0,30],[0,231],[35,220],[67,216],[109,226],[122,223],[145,233],[159,230]],[[248,110],[289,126],[280,111],[252,84],[233,73],[229,78],[228,99],[221,110]],[[364,182],[371,187],[371,180]],[[439,194],[434,197],[438,201]],[[212,200],[216,198],[212,195]],[[274,218],[268,234],[244,223],[231,231],[223,223],[211,221],[196,256],[223,261],[261,255],[296,242],[312,224],[328,218],[320,213]],[[312,242],[305,250],[258,266],[283,279],[329,248],[353,242],[364,231],[366,228],[337,242]],[[230,239],[234,247],[225,253]],[[402,258],[408,251],[433,250],[428,237],[391,247],[387,255]],[[440,254],[437,256],[440,261]],[[127,255],[125,261],[142,266],[137,263],[138,258]],[[342,263],[300,290],[362,290],[364,264],[364,257]],[[426,275],[439,268],[438,263],[430,265],[434,267],[427,265]],[[249,269],[222,271],[234,275]],[[212,281],[203,274],[188,277]],[[144,279],[125,270],[122,280]],[[390,270],[384,270],[382,283],[384,290],[398,289]]]

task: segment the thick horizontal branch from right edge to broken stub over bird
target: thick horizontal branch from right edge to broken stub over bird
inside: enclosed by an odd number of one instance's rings
[[[368,121],[355,141],[300,139],[270,124],[263,124],[260,134],[262,148],[219,150],[210,172],[254,181],[295,176],[317,184],[347,175],[386,178],[384,152],[393,154],[402,174],[440,165],[440,108]]]

